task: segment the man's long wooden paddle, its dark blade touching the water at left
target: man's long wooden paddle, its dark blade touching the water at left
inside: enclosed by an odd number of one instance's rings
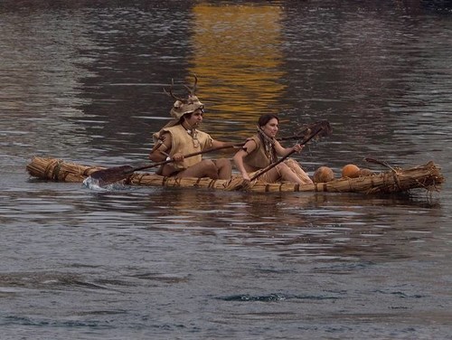
[[[299,139],[299,138],[305,137],[306,132],[308,132],[308,131],[311,131],[311,126],[305,127],[304,129],[302,129],[297,134],[294,134],[293,136],[281,137],[278,140]],[[198,151],[198,152],[194,152],[193,154],[185,155],[184,158],[198,156],[198,155],[206,154],[209,152],[218,151],[218,150],[221,150],[224,148],[240,147],[240,146],[244,146],[244,145],[245,145],[245,143],[239,143],[239,144],[232,144],[230,146],[214,147],[214,148],[211,148],[208,150]],[[129,175],[132,175],[136,171],[149,169],[149,168],[152,168],[155,166],[165,165],[165,164],[168,164],[171,162],[174,162],[174,160],[167,159],[162,162],[157,162],[157,163],[152,163],[152,164],[147,164],[147,165],[142,165],[142,166],[137,166],[137,167],[134,167],[132,165],[121,165],[121,166],[109,167],[107,169],[102,169],[102,170],[93,172],[90,175],[90,177],[92,179],[96,180],[99,183],[99,186],[105,186],[105,185],[113,184],[113,183],[116,183],[123,179],[126,179]]]

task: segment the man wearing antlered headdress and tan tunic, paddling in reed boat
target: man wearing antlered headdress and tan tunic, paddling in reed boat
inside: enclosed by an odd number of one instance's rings
[[[233,146],[232,143],[213,139],[198,127],[202,123],[204,105],[195,96],[197,78],[188,98],[178,98],[173,94],[173,86],[169,93],[175,99],[170,115],[173,118],[159,132],[154,134],[155,146],[149,154],[153,162],[172,159],[174,162],[162,165],[158,175],[182,177],[210,177],[212,179],[230,179],[231,161],[227,158],[202,159],[202,155],[184,157],[197,152],[208,151],[218,147]],[[172,84],[173,85],[173,84]]]

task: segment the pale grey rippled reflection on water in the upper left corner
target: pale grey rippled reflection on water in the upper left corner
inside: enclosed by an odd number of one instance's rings
[[[83,59],[74,58],[89,44],[87,27],[68,14],[55,18],[38,12],[26,18],[4,14],[0,24],[2,144],[16,146],[11,156],[49,153],[50,144],[56,155],[68,146],[86,149],[89,136],[73,120],[83,116],[80,78],[90,75],[81,67]]]

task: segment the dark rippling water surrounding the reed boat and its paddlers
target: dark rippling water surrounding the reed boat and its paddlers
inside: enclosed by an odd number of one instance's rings
[[[0,5],[2,339],[452,338],[446,1]],[[312,174],[434,160],[434,194],[243,194],[30,179],[32,156],[146,162],[163,87],[241,141],[328,119]],[[373,165],[375,166],[375,165]],[[376,170],[381,170],[378,166]]]

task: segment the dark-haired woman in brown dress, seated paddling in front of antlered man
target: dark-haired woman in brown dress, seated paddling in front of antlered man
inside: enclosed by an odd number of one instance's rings
[[[278,133],[279,118],[273,114],[262,115],[258,121],[258,133],[247,139],[245,145],[233,157],[243,179],[250,181],[261,169],[275,163],[278,156],[287,156],[290,152],[300,152],[304,146],[281,146],[275,139]],[[288,158],[276,165],[259,179],[268,183],[288,181],[296,184],[312,184],[311,178],[296,160]]]

